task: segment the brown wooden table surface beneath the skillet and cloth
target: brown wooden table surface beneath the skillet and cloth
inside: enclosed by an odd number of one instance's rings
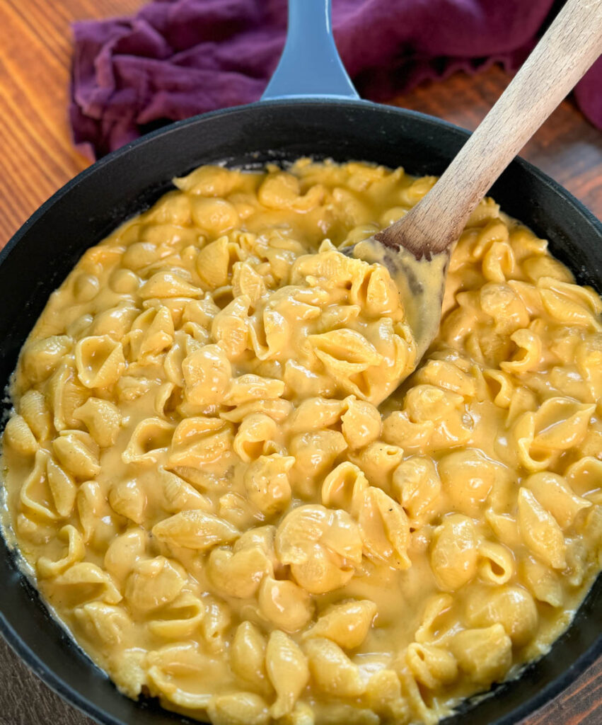
[[[141,0],[0,0],[0,247],[54,191],[88,165],[72,147],[67,83],[72,20],[133,12]],[[492,68],[398,97],[400,106],[475,128],[509,78]],[[602,133],[565,101],[524,150],[602,216]],[[0,642],[0,725],[92,725]],[[602,660],[522,725],[602,723]]]

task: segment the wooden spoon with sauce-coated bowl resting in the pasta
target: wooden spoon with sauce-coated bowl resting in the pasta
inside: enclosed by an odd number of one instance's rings
[[[485,191],[601,52],[602,0],[569,0],[431,191],[396,223],[341,250],[388,267],[417,363],[438,332],[453,243]]]

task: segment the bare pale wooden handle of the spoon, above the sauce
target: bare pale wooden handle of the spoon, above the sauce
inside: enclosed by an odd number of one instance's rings
[[[602,0],[569,0],[440,180],[380,241],[419,257],[456,241],[488,188],[601,52]]]

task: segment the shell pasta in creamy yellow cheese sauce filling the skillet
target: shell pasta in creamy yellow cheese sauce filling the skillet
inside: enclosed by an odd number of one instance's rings
[[[130,697],[215,725],[432,724],[601,568],[601,299],[485,199],[417,370],[338,252],[434,178],[200,167],[88,249],[22,349],[7,526]]]

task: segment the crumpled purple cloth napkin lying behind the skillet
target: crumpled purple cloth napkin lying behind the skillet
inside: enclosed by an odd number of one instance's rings
[[[515,70],[553,0],[333,0],[335,38],[375,101],[457,70]],[[133,17],[77,22],[70,120],[99,157],[152,128],[256,101],[283,48],[285,0],[153,0]],[[575,91],[602,128],[602,59]]]

